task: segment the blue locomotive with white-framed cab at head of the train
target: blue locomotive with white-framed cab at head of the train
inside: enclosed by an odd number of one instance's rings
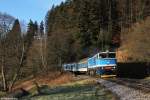
[[[115,76],[116,66],[115,52],[100,52],[88,59],[88,73],[90,75]]]

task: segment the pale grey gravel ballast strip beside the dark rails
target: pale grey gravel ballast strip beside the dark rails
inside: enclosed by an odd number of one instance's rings
[[[103,79],[98,79],[98,83],[116,94],[120,100],[150,100],[150,93],[144,93],[141,90],[136,90],[134,88]]]

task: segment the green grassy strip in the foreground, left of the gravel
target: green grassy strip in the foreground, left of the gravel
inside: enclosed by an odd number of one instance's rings
[[[27,98],[31,100],[116,100],[116,97],[104,87],[96,85],[92,79],[78,80],[50,88],[43,87],[43,94],[36,95],[32,90],[32,95]],[[25,99],[27,99],[25,98]]]

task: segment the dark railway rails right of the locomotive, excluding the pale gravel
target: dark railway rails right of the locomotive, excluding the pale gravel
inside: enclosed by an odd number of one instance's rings
[[[150,93],[150,81],[140,80],[140,79],[127,79],[127,78],[108,79],[108,81],[125,85],[127,87],[131,87],[136,90],[143,91],[145,93]]]

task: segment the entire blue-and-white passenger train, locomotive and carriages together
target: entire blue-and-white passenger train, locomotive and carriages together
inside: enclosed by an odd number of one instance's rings
[[[117,59],[116,52],[99,52],[92,57],[85,58],[79,62],[63,64],[63,70],[100,77],[116,76]]]

